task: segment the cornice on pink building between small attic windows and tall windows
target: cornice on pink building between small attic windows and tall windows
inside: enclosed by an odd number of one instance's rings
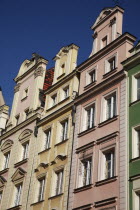
[[[90,97],[91,95],[93,96],[93,94],[95,94],[97,91],[101,91],[102,89],[104,89],[105,87],[107,87],[108,85],[113,84],[114,82],[118,82],[118,80],[125,78],[125,72],[124,70],[121,70],[119,72],[117,72],[116,74],[112,75],[111,77],[109,77],[108,79],[104,80],[103,82],[97,84],[96,86],[92,87],[91,89],[89,89],[88,91],[82,93],[81,95],[79,95],[75,101],[74,104],[78,104],[81,102],[81,100]]]

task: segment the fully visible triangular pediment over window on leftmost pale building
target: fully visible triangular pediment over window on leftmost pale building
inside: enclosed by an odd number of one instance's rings
[[[25,177],[26,171],[23,170],[22,168],[18,168],[13,176],[11,177],[13,182],[22,182],[24,177]]]

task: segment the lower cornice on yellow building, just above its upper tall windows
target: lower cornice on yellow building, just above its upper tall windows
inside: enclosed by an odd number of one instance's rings
[[[44,117],[43,119],[40,119],[40,121],[37,123],[37,127],[40,127],[41,125],[46,123],[46,121],[48,122],[57,116],[61,116],[62,113],[65,113],[65,112],[71,110],[73,104],[74,104],[74,101],[71,101],[70,103],[66,104],[65,106],[61,107],[60,109],[56,110],[55,112],[51,113],[50,115]]]

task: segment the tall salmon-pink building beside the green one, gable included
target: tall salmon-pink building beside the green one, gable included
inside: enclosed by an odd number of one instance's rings
[[[90,57],[77,67],[75,133],[68,209],[127,209],[126,76],[121,62],[135,37],[122,34],[124,10],[104,9]]]

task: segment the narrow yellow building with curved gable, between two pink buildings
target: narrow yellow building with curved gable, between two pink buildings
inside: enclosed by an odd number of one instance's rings
[[[74,133],[74,99],[79,78],[75,70],[79,47],[63,47],[55,56],[52,86],[37,123],[38,154],[32,178],[33,210],[66,210]]]

